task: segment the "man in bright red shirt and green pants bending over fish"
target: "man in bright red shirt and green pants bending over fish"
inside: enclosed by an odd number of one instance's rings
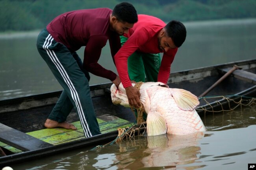
[[[138,22],[121,36],[122,48],[115,55],[117,72],[129,104],[140,106],[140,93],[131,80],[167,83],[174,56],[186,39],[186,28],[178,21],[165,24],[159,18],[138,15]],[[161,61],[160,55],[163,53]],[[161,63],[161,64],[160,64]]]

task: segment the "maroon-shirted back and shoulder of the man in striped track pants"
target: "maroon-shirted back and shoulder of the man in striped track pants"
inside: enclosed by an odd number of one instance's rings
[[[108,8],[70,11],[57,16],[46,29],[56,41],[76,51],[86,46],[91,36],[106,36],[111,13],[112,10]]]

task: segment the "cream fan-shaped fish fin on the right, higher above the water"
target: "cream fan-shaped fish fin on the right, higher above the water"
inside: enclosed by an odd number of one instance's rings
[[[190,91],[177,88],[170,88],[170,90],[180,109],[192,111],[199,105],[197,96],[193,95]]]

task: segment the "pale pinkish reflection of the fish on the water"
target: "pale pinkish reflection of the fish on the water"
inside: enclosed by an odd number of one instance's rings
[[[148,136],[148,149],[145,152],[150,153],[150,156],[143,158],[142,162],[145,167],[193,163],[198,159],[200,147],[197,145],[203,136],[203,132],[189,135]]]

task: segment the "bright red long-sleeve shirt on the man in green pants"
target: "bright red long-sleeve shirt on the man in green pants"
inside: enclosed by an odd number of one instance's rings
[[[124,88],[132,86],[128,76],[127,60],[136,50],[143,53],[163,53],[161,66],[158,73],[158,81],[167,83],[170,75],[171,63],[178,48],[170,49],[167,52],[160,51],[158,48],[158,33],[165,27],[165,22],[149,15],[138,15],[138,22],[129,29],[128,40],[115,55],[117,72]]]

